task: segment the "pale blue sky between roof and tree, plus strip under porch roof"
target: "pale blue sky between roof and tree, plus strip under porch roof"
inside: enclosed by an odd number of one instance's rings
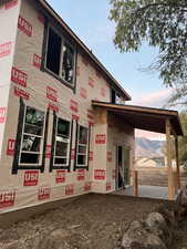
[[[108,20],[110,0],[48,0],[79,38],[132,96],[128,104],[163,107],[170,90],[157,73],[143,72],[157,56],[157,49],[144,44],[139,52],[121,53],[113,43],[115,23]],[[136,132],[137,136],[163,139],[159,134]]]

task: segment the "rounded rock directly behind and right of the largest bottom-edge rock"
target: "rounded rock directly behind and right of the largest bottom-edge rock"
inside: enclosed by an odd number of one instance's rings
[[[159,212],[149,214],[145,220],[145,225],[147,226],[150,234],[159,237],[160,240],[165,241],[167,246],[172,243],[173,232],[167,226],[167,222],[163,215],[160,215]]]

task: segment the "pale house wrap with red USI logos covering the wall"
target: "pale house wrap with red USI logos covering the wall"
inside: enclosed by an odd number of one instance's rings
[[[108,82],[98,74],[81,53],[77,54],[75,91],[40,70],[44,18],[31,2],[29,0],[13,0],[11,1],[11,8],[6,10],[4,4],[0,7],[0,20],[2,20],[0,30],[6,31],[6,34],[0,32],[0,44],[12,42],[11,53],[0,58],[0,69],[3,69],[3,73],[0,73],[0,84],[9,84],[8,87],[2,87],[2,92],[0,91],[0,106],[7,108],[6,123],[0,124],[0,141],[3,141],[0,159],[0,212],[90,191],[106,193],[114,190],[115,148],[113,145],[115,139],[121,139],[122,134],[114,129],[112,131],[114,134],[112,137],[106,113],[103,114],[104,118],[97,117],[96,110],[92,110],[91,104],[92,100],[110,102],[111,90]],[[20,20],[21,23],[27,23],[27,25],[22,27],[19,23]],[[37,62],[34,61],[35,58]],[[23,72],[27,79],[25,84],[10,81],[12,68]],[[48,98],[48,86],[55,90],[56,102]],[[21,125],[19,120],[21,103],[24,106],[32,106],[44,112],[49,110],[44,170],[34,170],[37,172],[35,178],[32,184],[31,177],[31,186],[24,186],[24,181],[33,169],[12,170],[15,154],[18,153],[15,148],[18,129]],[[72,108],[72,103],[76,104],[76,108]],[[70,170],[65,170],[63,175],[63,183],[59,184],[56,183],[58,169],[50,172],[54,113],[56,116],[73,123],[71,166]],[[83,169],[81,180],[79,169],[74,170],[76,123],[90,128],[89,168]],[[128,135],[123,134],[128,144],[133,144],[132,137],[134,134],[132,131]],[[107,163],[107,151],[111,151],[113,155],[110,165]],[[107,183],[111,183],[111,187],[107,186]]]

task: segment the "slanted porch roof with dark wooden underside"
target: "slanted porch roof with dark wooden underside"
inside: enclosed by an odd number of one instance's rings
[[[106,102],[92,101],[92,105],[97,108],[105,108],[123,117],[127,124],[134,128],[149,132],[166,133],[166,120],[170,120],[173,126],[172,134],[183,136],[183,127],[177,111],[163,108],[150,108],[144,106],[111,104]]]

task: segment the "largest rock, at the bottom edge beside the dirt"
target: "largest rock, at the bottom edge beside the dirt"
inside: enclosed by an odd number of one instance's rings
[[[146,230],[143,221],[133,221],[122,240],[123,249],[166,249],[156,235]]]

